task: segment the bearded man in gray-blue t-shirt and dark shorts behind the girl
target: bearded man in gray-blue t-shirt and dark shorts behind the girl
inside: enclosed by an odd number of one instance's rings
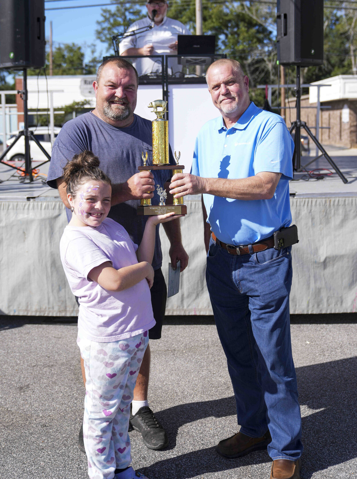
[[[149,120],[134,114],[137,94],[137,73],[123,58],[106,60],[98,68],[93,87],[96,107],[67,122],[56,138],[48,171],[47,183],[58,192],[67,207],[67,218],[71,217],[67,201],[67,184],[62,179],[62,169],[68,160],[83,150],[91,150],[100,160],[100,168],[112,180],[112,207],[109,217],[120,223],[137,244],[140,244],[146,219],[136,215],[141,198],[153,198],[158,204],[156,185],[165,187],[170,174],[165,170],[138,171],[143,164],[141,154],[147,152],[147,164],[152,164],[152,127]],[[170,149],[170,163],[175,164]],[[168,186],[168,183],[167,183]],[[172,264],[180,261],[181,271],[188,263],[188,255],[181,242],[179,219],[164,223],[170,241]],[[161,337],[162,320],[165,315],[167,290],[161,272],[162,253],[158,227],[153,260],[154,285],[151,302],[156,325],[149,330],[150,339]],[[85,382],[83,362],[82,374]],[[150,349],[146,349],[134,389],[134,400],[130,422],[142,433],[144,444],[150,449],[163,449],[168,445],[167,435],[158,424],[147,401],[150,372]],[[83,430],[79,432],[79,448],[84,451]],[[118,471],[119,472],[119,471]]]

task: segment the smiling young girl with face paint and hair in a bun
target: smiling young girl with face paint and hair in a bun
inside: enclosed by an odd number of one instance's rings
[[[63,179],[72,219],[60,252],[80,305],[77,343],[86,371],[88,474],[91,479],[147,479],[130,467],[130,403],[148,330],[155,324],[149,290],[155,227],[173,219],[173,213],[149,217],[137,247],[120,224],[107,218],[111,181],[92,152],[69,161]]]

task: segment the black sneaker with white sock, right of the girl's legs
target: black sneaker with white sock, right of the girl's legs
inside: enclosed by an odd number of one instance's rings
[[[157,422],[149,406],[143,406],[133,416],[130,411],[130,424],[143,436],[143,443],[149,449],[164,449],[168,445],[167,435]]]

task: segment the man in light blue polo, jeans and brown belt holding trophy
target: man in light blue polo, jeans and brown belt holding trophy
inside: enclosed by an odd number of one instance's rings
[[[221,116],[201,128],[191,174],[174,175],[170,193],[202,194],[207,287],[241,425],[216,451],[234,458],[268,448],[270,479],[299,479],[291,246],[274,249],[272,237],[291,223],[293,141],[279,115],[250,102],[237,61],[215,61],[206,80]]]

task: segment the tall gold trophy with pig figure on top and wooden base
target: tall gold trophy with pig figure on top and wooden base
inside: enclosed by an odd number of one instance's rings
[[[178,164],[180,159],[180,152],[178,156],[175,151],[176,166],[170,165],[168,162],[168,120],[163,118],[164,114],[167,113],[166,110],[167,102],[164,100],[155,100],[148,104],[148,108],[153,108],[152,113],[156,114],[156,119],[153,120],[153,164],[146,165],[147,161],[147,152],[144,156],[142,153],[142,159],[144,161],[144,166],[140,166],[139,171],[151,171],[151,170],[173,170],[173,174],[182,173],[185,168],[183,165]],[[157,108],[162,108],[157,110]],[[151,205],[151,199],[142,199],[140,201],[140,206],[137,208],[138,215],[165,215],[166,213],[174,212],[176,215],[186,215],[187,206],[183,204],[183,198],[174,198],[173,205],[165,205],[165,200],[167,198],[166,191],[157,185],[156,188],[157,194],[160,197],[160,204],[157,206]],[[151,192],[148,192],[151,193]]]

